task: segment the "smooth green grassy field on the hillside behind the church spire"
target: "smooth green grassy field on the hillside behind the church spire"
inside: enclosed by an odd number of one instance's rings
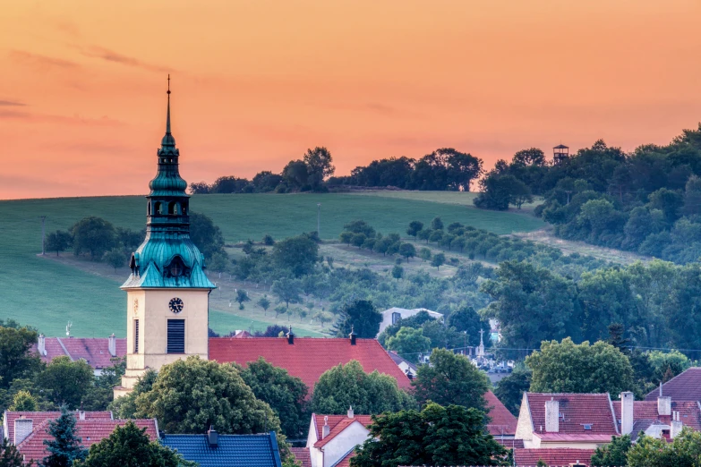
[[[460,195],[402,192],[399,196],[389,191],[363,195],[206,195],[193,197],[191,209],[212,217],[227,242],[260,240],[264,234],[279,239],[315,230],[317,203],[321,203],[321,237],[325,239],[338,238],[346,222],[361,218],[386,234],[404,234],[410,221],[428,223],[436,216],[446,225],[462,222],[497,234],[543,226],[539,219],[525,214],[472,208]],[[471,200],[471,193],[462,195]],[[146,201],[140,196],[0,201],[0,318],[17,319],[46,335],[64,335],[71,320],[72,335],[99,337],[114,332],[124,336],[126,295],[118,287],[122,278],[90,274],[41,258],[39,216],[47,216],[47,232],[67,229],[87,216],[141,229],[145,211]],[[125,278],[127,270],[120,274]],[[254,322],[254,328],[264,327],[267,321]],[[211,322],[223,331],[248,328],[251,319],[239,318],[229,310],[212,310]]]

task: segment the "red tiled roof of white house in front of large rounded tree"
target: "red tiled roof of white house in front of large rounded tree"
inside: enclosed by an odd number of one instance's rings
[[[545,402],[560,402],[560,434],[615,435],[616,424],[608,394],[543,394],[526,393],[535,433],[545,432]],[[584,429],[585,424],[592,429]],[[541,429],[542,427],[542,429]]]

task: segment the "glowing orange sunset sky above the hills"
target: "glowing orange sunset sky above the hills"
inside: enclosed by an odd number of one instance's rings
[[[699,23],[697,0],[0,0],[0,199],[147,191],[167,72],[188,182],[313,146],[348,174],[666,143],[701,120]]]

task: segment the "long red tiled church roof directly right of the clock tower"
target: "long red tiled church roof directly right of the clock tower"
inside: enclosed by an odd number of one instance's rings
[[[279,337],[256,337],[236,339],[233,337],[209,338],[209,359],[220,363],[235,361],[245,365],[263,357],[276,367],[284,368],[309,386],[310,394],[321,374],[349,361],[359,361],[363,370],[380,373],[397,379],[398,386],[407,389],[409,378],[389,358],[375,339],[357,339],[355,345],[349,339],[326,339],[314,337],[295,338],[295,344]]]

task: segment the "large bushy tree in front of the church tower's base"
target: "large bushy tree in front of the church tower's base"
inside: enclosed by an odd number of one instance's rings
[[[256,399],[234,366],[190,356],[164,365],[149,392],[136,399],[136,417],[156,418],[168,433],[279,431],[278,416]]]

